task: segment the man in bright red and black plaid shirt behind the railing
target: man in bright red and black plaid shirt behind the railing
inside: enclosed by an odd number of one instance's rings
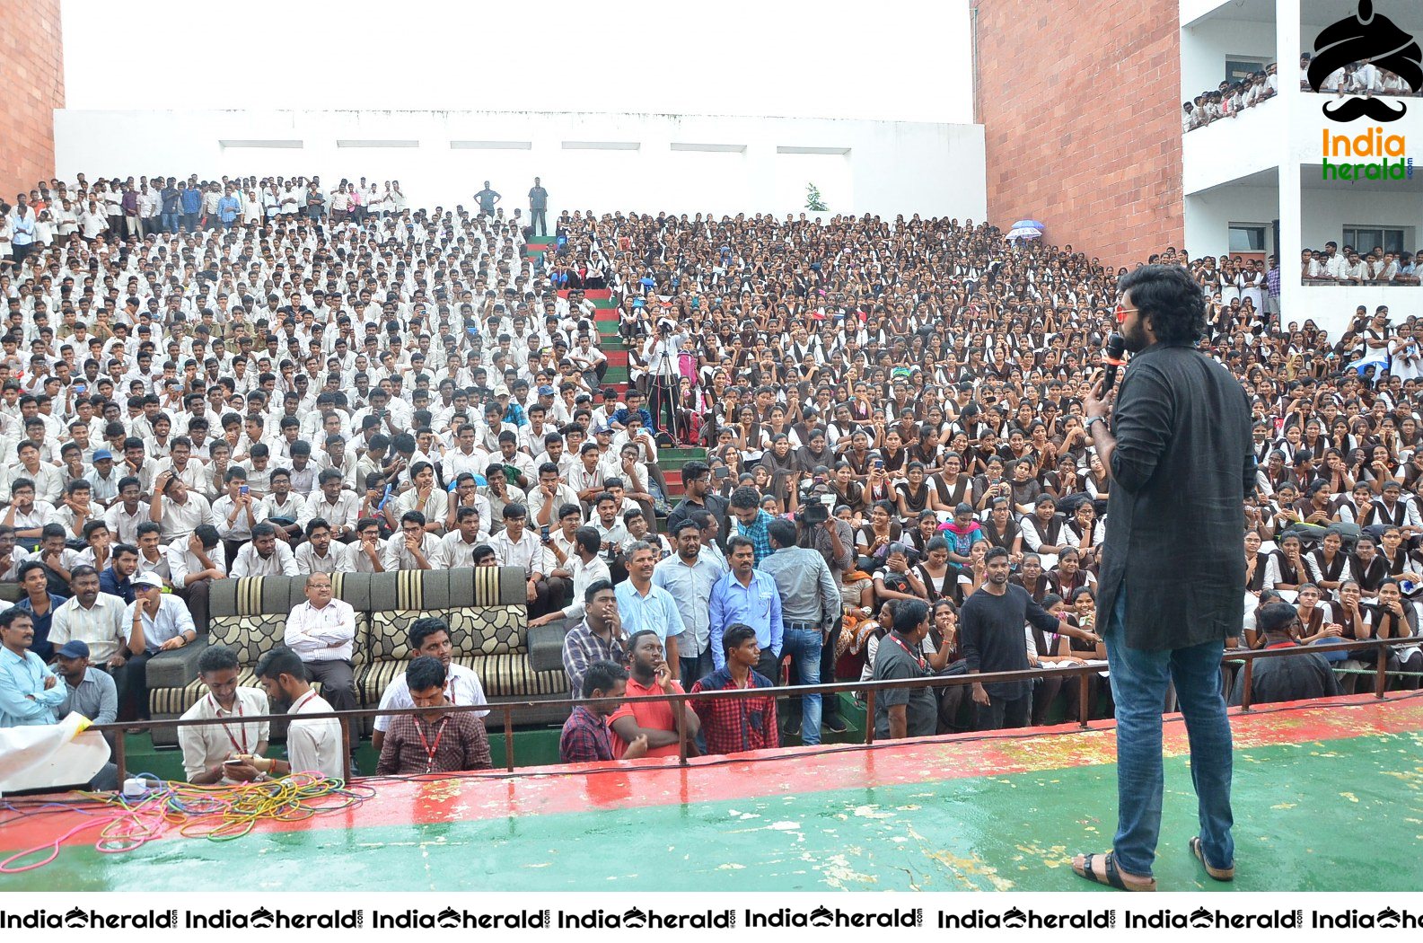
[[[754,628],[743,622],[729,625],[721,635],[721,647],[726,651],[726,665],[692,685],[693,694],[774,687],[770,678],[756,672],[756,664],[761,660],[761,645],[756,641]],[[773,694],[710,698],[694,701],[692,707],[702,718],[707,754],[739,754],[780,746]]]

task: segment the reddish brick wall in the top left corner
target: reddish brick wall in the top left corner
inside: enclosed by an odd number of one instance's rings
[[[54,177],[54,108],[64,107],[60,0],[0,0],[0,198]]]

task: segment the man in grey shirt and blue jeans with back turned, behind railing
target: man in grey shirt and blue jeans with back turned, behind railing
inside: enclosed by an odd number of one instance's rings
[[[766,526],[773,553],[760,568],[776,580],[780,591],[784,651],[794,660],[800,682],[820,684],[825,632],[840,617],[840,587],[820,551],[795,544],[795,524],[783,517]],[[818,694],[801,699],[801,742],[807,746],[820,744],[820,711]]]

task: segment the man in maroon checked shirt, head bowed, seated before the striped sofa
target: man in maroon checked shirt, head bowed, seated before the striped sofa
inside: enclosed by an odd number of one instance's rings
[[[413,707],[430,712],[390,718],[377,775],[421,776],[490,768],[490,738],[475,712],[435,709],[450,704],[445,681],[445,667],[430,655],[420,655],[406,668]]]

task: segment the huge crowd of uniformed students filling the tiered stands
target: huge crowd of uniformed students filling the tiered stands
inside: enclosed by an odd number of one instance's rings
[[[613,691],[771,685],[783,671],[814,682],[1101,657],[1110,476],[1080,396],[1126,268],[919,215],[565,211],[548,252],[528,255],[519,221],[484,197],[474,211],[361,199],[337,212],[302,177],[182,184],[233,194],[235,215],[202,205],[174,231],[169,179],[112,181],[104,192],[157,189],[159,225],[57,229],[14,245],[0,273],[0,580],[21,583],[7,618],[28,622],[0,654],[13,688],[0,724],[53,718],[46,665],[63,667],[70,641],[118,681],[118,715],[145,717],[142,662],[196,641],[208,587],[238,575],[522,567],[531,622],[569,628],[571,691],[608,695],[609,714]],[[46,181],[9,217],[91,205],[98,189]],[[266,192],[307,199],[253,197]],[[1308,566],[1285,534],[1294,517],[1402,513],[1389,520],[1417,528],[1413,316],[1360,311],[1331,338],[1279,311],[1276,265],[1175,246],[1141,262],[1197,276],[1202,346],[1251,393],[1262,472],[1242,533],[1261,541],[1257,583]],[[605,382],[599,288],[628,342],[626,389]],[[672,507],[659,454],[684,443],[707,457]],[[1350,550],[1360,615],[1323,622],[1339,637],[1413,634],[1410,590],[1389,577],[1423,564],[1414,534],[1396,536]],[[1010,645],[959,625],[998,567],[1050,615]],[[1302,583],[1252,593],[1299,593],[1313,620],[1340,591],[1312,600]],[[901,652],[905,640],[922,654]],[[1416,655],[1400,642],[1396,684],[1416,684]],[[310,672],[265,668],[306,697],[296,675]],[[1106,684],[1080,682],[1107,712]],[[803,742],[842,728],[835,699],[776,704],[719,699],[686,719],[713,752],[774,745],[780,726]],[[1044,681],[1029,719],[1076,705],[1072,684]],[[670,711],[626,707],[612,725],[575,714],[571,758],[665,751]],[[885,729],[1015,719],[976,697],[909,707],[881,701]]]

